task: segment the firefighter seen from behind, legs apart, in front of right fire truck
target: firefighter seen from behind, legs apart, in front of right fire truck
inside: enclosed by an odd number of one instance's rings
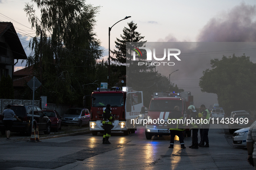
[[[179,111],[179,107],[175,106],[174,111],[169,113],[168,119],[171,120],[169,121],[169,127],[170,127],[170,135],[171,135],[171,140],[170,140],[170,146],[169,148],[173,148],[174,145],[174,137],[175,135],[178,136],[181,148],[185,149],[185,143],[183,141],[183,134],[182,132],[185,130],[183,127],[185,124],[181,124],[181,122],[178,121],[178,119],[183,119],[183,116],[181,112]],[[176,122],[175,124],[172,124],[172,122]]]

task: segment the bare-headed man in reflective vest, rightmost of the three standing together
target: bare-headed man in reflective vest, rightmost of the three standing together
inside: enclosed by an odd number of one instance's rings
[[[210,128],[210,124],[209,124],[210,112],[208,111],[208,109],[205,108],[204,104],[202,104],[199,107],[199,110],[203,114],[203,125],[202,125],[202,143],[201,143],[201,145],[198,145],[198,146],[208,148],[209,147],[208,132],[209,132],[209,128]],[[206,142],[205,145],[204,145],[204,142]]]

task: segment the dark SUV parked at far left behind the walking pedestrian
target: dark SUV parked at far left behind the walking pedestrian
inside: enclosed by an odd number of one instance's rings
[[[28,135],[31,134],[32,130],[32,105],[19,105],[19,104],[10,104],[11,110],[14,111],[16,116],[22,120],[19,122],[16,118],[13,118],[13,126],[11,132],[23,132],[27,133]],[[4,107],[3,110],[7,109],[7,106]],[[48,116],[45,116],[43,111],[34,106],[34,127],[38,126],[39,132],[43,131],[45,134],[51,133],[51,120]],[[0,115],[0,132],[2,135],[5,134],[5,127],[3,125],[3,114]]]

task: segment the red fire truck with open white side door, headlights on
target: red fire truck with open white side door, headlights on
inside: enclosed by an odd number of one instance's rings
[[[111,88],[112,89],[112,88]],[[134,133],[136,124],[131,123],[131,119],[136,119],[143,107],[143,92],[129,90],[120,91],[97,88],[91,94],[91,122],[90,130],[92,135],[98,132],[103,133],[102,115],[107,104],[111,105],[111,112],[115,117],[111,131],[122,131],[124,135]]]

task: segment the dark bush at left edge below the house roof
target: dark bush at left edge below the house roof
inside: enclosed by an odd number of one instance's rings
[[[0,98],[3,98],[3,99],[14,98],[13,80],[9,74],[7,77],[5,77],[4,75],[1,77]]]

